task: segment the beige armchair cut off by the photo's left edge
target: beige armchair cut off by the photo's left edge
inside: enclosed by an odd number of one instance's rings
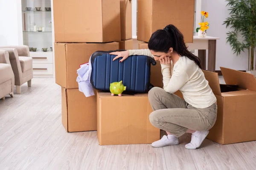
[[[9,60],[9,53],[0,50],[0,99],[4,100],[7,94],[13,97],[14,74]]]

